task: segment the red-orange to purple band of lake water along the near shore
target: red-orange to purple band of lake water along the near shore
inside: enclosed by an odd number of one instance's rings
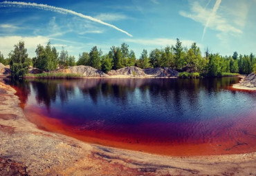
[[[68,115],[64,119],[50,117],[45,107],[31,103],[32,100],[28,100],[29,96],[23,89],[15,88],[26,117],[38,128],[89,143],[177,156],[226,155],[256,151],[254,109],[247,113],[246,117],[239,115],[233,119],[206,118],[200,123],[199,121],[144,121],[136,126],[116,124],[109,127],[102,121],[90,118],[80,124],[80,119]],[[65,115],[58,108],[52,107],[51,111],[60,117]]]

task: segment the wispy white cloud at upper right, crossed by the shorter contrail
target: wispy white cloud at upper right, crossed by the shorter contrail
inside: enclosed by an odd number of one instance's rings
[[[220,3],[220,1],[218,1],[218,3]],[[218,8],[219,6],[217,4],[214,10],[217,11]],[[212,9],[204,8],[198,1],[194,1],[191,4],[191,12],[180,11],[179,14],[181,14],[183,17],[193,19],[194,21],[199,22],[203,26],[206,26],[212,30],[227,33],[229,32],[231,35],[242,34],[241,28],[232,22],[232,20],[235,20],[234,15],[227,17],[221,12],[212,13]],[[244,19],[245,18],[246,17],[244,17]]]

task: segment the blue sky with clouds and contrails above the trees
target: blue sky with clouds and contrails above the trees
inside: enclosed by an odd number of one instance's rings
[[[128,43],[138,58],[143,48],[150,52],[171,46],[177,37],[184,46],[196,42],[202,52],[208,47],[221,55],[234,51],[256,54],[256,0],[0,2],[0,51],[4,57],[23,39],[30,57],[35,56],[39,43],[45,46],[50,40],[59,52],[64,46],[76,59],[93,46],[107,53],[122,42]]]

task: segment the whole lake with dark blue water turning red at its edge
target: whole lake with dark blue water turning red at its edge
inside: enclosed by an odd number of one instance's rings
[[[8,81],[38,128],[162,155],[256,150],[256,92],[214,79]]]

